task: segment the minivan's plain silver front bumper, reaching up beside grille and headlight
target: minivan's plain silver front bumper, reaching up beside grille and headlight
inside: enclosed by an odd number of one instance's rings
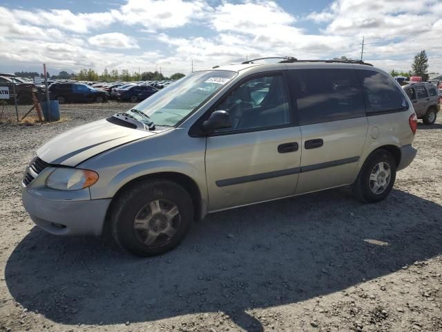
[[[90,199],[89,190],[64,192],[41,185],[42,172],[28,186],[21,185],[21,200],[32,221],[57,235],[102,234],[111,199]]]

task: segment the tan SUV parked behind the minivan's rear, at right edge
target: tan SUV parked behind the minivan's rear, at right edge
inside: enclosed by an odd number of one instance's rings
[[[424,124],[433,124],[439,112],[439,93],[429,82],[416,82],[403,86],[413,103],[414,111]]]

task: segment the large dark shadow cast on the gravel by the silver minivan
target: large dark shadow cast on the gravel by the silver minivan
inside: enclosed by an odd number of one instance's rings
[[[376,204],[329,190],[211,214],[175,250],[147,259],[34,228],[10,255],[6,283],[28,311],[63,324],[222,311],[262,331],[253,308],[342,291],[440,255],[441,211],[399,190]]]

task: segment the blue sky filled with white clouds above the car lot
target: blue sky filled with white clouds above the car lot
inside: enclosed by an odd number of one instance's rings
[[[245,57],[361,57],[408,71],[420,50],[442,72],[439,0],[1,1],[0,71],[124,68],[170,75]],[[436,39],[434,39],[436,38]]]

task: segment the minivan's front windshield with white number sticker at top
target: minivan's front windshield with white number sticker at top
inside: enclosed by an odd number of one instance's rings
[[[157,126],[175,126],[237,74],[234,71],[191,73],[147,98],[135,109],[146,114]],[[133,116],[143,120],[140,114],[134,112]]]

